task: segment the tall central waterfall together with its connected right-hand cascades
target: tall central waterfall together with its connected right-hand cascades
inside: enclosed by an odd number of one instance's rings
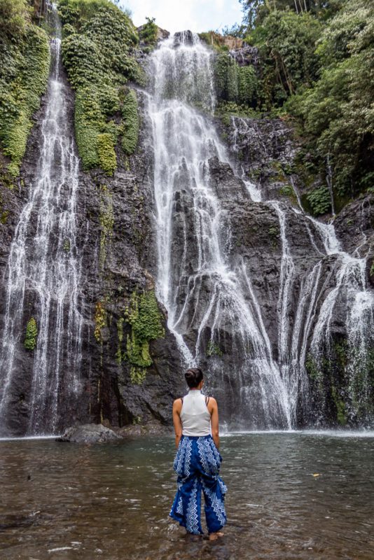
[[[374,335],[374,300],[366,289],[365,260],[341,251],[333,225],[319,223],[290,205],[266,202],[278,219],[282,244],[278,337],[276,349],[272,348],[253,272],[251,276],[240,255],[228,256],[233,241],[227,198],[252,204],[261,201],[261,190],[239,162],[230,166],[244,182],[244,192],[238,187],[225,195],[223,186],[222,195],[212,178],[212,161],[228,162],[207,116],[214,109],[212,55],[197,37],[185,32],[164,41],[153,52],[150,67],[157,289],[186,365],[214,356],[209,385],[219,396],[223,416],[226,420],[230,416],[231,427],[297,426],[300,409],[307,416],[305,411],[312,406],[305,361],[312,359],[321,366],[332,339],[331,316],[335,308],[345,306],[348,352],[354,356],[349,366],[352,411],[347,414],[354,416],[357,399],[369,394],[368,373],[361,368],[357,374],[354,364],[359,359],[365,363]],[[232,119],[234,139],[246,127],[244,120]],[[293,255],[290,220],[297,220],[309,239],[307,264],[305,258]],[[354,381],[357,375],[361,377]]]

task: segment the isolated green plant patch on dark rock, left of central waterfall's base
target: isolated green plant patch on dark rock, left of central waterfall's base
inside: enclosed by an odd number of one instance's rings
[[[158,309],[154,290],[135,290],[125,311],[125,320],[131,325],[131,335],[127,335],[126,356],[131,364],[130,379],[140,383],[146,374],[146,367],[153,361],[149,353],[149,342],[164,337],[162,315]]]

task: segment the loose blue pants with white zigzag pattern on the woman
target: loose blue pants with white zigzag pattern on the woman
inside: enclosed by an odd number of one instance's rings
[[[222,457],[212,435],[191,437],[182,435],[174,461],[178,475],[178,491],[170,517],[198,535],[201,528],[201,491],[205,499],[205,518],[209,533],[216,533],[226,524],[223,500],[227,488],[219,477]]]

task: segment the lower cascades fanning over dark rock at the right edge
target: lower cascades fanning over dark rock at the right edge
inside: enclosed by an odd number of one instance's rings
[[[248,132],[249,127],[243,119],[233,118],[234,151],[240,134]],[[268,157],[265,147],[264,155]],[[292,177],[290,182],[301,209]],[[370,404],[374,297],[366,283],[366,258],[360,258],[359,248],[355,251],[358,258],[342,251],[332,224],[321,223],[286,204],[272,200],[266,204],[277,212],[282,241],[277,306],[278,363],[289,394],[292,423],[296,425],[298,409],[303,409],[305,413],[311,407],[311,402],[308,402],[310,380],[305,361],[307,358],[312,360],[312,375],[318,381],[320,398],[324,400],[321,370],[331,368],[331,360],[336,359],[336,355],[331,353],[331,346],[335,344],[338,351],[345,354],[343,361],[346,364],[341,365],[349,377],[346,391],[349,394],[344,395],[345,403],[338,397],[332,377],[329,379],[335,405],[345,409],[341,421],[354,419],[363,426],[371,426],[374,421],[374,410]],[[307,257],[312,260],[311,267],[303,269],[298,265],[296,269],[297,255],[291,254],[292,233],[287,227],[292,214],[297,216],[299,232],[303,228],[307,230],[310,239]],[[363,238],[361,245],[366,241],[364,234]],[[294,312],[290,310],[291,302],[297,302]],[[337,340],[336,336],[334,340],[333,317],[336,322],[339,314],[342,322],[340,331],[347,337],[347,342],[342,342],[344,338],[341,337]]]

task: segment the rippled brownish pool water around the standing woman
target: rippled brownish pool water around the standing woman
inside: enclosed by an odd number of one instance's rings
[[[0,442],[2,560],[373,560],[374,437],[223,437],[225,536],[169,519],[172,437]],[[314,476],[319,475],[319,476]]]

